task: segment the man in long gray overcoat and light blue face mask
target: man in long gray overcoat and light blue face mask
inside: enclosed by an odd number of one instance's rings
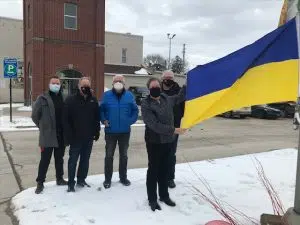
[[[50,79],[49,91],[40,95],[32,109],[31,118],[39,128],[39,146],[41,160],[37,181],[36,194],[44,189],[46,174],[54,151],[56,184],[67,185],[63,179],[64,174],[64,138],[62,125],[63,97],[61,94],[60,79],[53,76]]]

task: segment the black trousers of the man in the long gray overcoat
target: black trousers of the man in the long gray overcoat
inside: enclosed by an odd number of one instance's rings
[[[54,151],[56,179],[60,180],[64,175],[64,155],[65,146],[62,138],[57,138],[59,147],[58,148],[41,148],[41,160],[39,164],[38,177],[36,181],[38,183],[44,183],[46,180],[46,174],[51,161],[52,153]]]

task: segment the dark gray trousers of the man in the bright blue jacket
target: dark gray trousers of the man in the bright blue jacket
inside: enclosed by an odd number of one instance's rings
[[[114,154],[119,145],[119,178],[120,180],[127,179],[127,162],[128,162],[128,147],[129,147],[130,133],[125,134],[105,134],[105,180],[111,181],[113,174]]]

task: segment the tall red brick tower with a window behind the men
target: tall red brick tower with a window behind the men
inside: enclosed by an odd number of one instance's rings
[[[64,93],[90,76],[104,89],[105,0],[24,0],[25,103],[48,88],[49,77],[63,79]]]

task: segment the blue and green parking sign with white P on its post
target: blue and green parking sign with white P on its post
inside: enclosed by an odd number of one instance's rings
[[[9,105],[10,122],[12,122],[12,86],[11,79],[18,77],[18,60],[16,58],[5,58],[3,60],[4,78],[9,79]]]

